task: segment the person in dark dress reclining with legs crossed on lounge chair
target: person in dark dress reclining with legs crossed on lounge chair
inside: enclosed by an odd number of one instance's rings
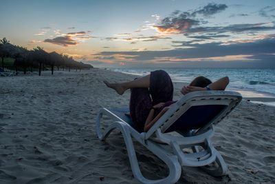
[[[153,71],[126,83],[104,83],[120,95],[131,89],[130,114],[133,125],[139,132],[147,132],[177,102],[173,101],[173,83],[164,70]],[[214,83],[204,76],[198,76],[188,86],[181,88],[181,94],[202,90],[225,90],[228,83],[227,76]]]

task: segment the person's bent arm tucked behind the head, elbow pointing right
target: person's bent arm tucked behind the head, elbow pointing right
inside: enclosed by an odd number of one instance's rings
[[[210,90],[225,90],[228,83],[229,83],[229,78],[228,78],[228,76],[225,76],[217,81],[214,81],[214,83],[210,83],[210,85],[208,85],[208,87],[210,88]],[[197,86],[187,85],[187,86],[184,86],[183,88],[181,88],[181,94],[188,94],[188,92],[206,91],[206,90],[208,90],[208,89],[197,87]]]

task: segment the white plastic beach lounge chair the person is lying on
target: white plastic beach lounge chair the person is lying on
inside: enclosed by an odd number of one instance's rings
[[[221,154],[212,146],[210,138],[214,134],[214,125],[227,116],[241,99],[238,92],[190,92],[162,115],[148,132],[137,132],[132,127],[131,117],[127,115],[129,108],[102,108],[97,116],[96,130],[100,140],[106,139],[115,128],[122,132],[133,175],[142,183],[175,183],[181,176],[181,166],[201,167],[212,176],[223,176],[228,168]],[[100,128],[102,115],[113,120],[103,134]],[[182,130],[183,123],[201,126],[196,130]],[[169,169],[166,178],[155,181],[144,178],[137,163],[132,138],[166,163]],[[187,147],[191,149],[186,153]]]

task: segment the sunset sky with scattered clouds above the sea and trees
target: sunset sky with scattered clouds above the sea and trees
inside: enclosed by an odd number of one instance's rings
[[[0,4],[0,38],[98,68],[275,68],[274,0]]]

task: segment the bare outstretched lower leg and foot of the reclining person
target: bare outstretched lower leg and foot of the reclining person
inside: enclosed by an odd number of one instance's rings
[[[103,82],[107,85],[107,87],[112,88],[118,94],[122,95],[129,88],[149,88],[150,74],[126,83],[109,83],[108,81]]]

